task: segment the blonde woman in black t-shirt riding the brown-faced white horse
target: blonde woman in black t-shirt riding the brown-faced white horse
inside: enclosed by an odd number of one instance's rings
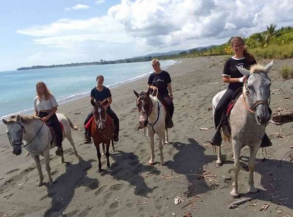
[[[158,90],[159,97],[166,103],[168,108],[167,114],[167,128],[173,127],[172,117],[174,113],[173,94],[171,86],[171,77],[167,71],[164,71],[160,67],[158,60],[152,60],[151,65],[154,72],[148,77],[148,87],[153,91]]]

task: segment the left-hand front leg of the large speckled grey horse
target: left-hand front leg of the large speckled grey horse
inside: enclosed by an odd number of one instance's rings
[[[234,153],[234,181],[233,181],[233,189],[231,191],[231,195],[233,197],[239,197],[238,193],[238,174],[240,171],[240,144],[238,144],[235,140],[232,141],[233,153]]]

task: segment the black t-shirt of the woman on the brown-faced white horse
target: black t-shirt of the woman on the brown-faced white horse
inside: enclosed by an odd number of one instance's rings
[[[159,74],[155,72],[151,73],[148,77],[147,84],[150,86],[155,86],[158,88],[158,92],[161,95],[168,94],[168,86],[167,84],[171,83],[171,77],[167,71],[162,71]]]

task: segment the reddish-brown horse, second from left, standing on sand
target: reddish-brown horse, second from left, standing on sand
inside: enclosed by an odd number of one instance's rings
[[[94,140],[95,147],[97,149],[98,160],[99,160],[99,170],[98,172],[102,172],[102,164],[101,164],[101,153],[100,153],[100,144],[105,143],[106,145],[106,158],[107,158],[107,169],[110,169],[109,163],[109,146],[113,137],[114,132],[114,123],[113,120],[107,115],[107,112],[102,105],[102,102],[93,102],[93,115],[94,115],[94,123],[91,125],[91,135]]]

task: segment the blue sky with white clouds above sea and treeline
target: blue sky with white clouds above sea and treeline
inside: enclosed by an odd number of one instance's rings
[[[1,0],[0,71],[221,44],[293,25],[292,0]]]

